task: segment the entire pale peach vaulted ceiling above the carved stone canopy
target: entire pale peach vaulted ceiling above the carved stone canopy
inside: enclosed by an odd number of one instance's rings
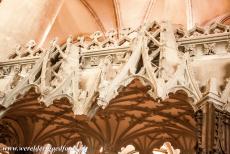
[[[16,13],[15,13],[16,12]],[[0,59],[30,39],[40,46],[59,37],[136,28],[171,20],[190,29],[212,21],[229,23],[229,0],[5,0],[0,4]]]

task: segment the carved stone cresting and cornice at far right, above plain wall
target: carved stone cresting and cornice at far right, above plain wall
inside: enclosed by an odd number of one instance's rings
[[[177,28],[174,35],[181,52],[189,52],[191,56],[213,55],[229,52],[229,26],[214,23],[209,27],[195,26],[190,31]],[[202,46],[202,49],[201,49]],[[193,48],[193,49],[192,49]]]

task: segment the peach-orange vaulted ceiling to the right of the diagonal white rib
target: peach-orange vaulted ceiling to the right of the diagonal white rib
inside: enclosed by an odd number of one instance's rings
[[[167,10],[167,11],[166,11]],[[48,35],[66,38],[127,27],[153,20],[171,20],[191,28],[230,12],[229,0],[68,0],[64,2]]]

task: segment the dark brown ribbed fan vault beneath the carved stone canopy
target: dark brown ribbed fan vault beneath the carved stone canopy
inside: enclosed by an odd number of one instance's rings
[[[170,94],[156,102],[146,92],[148,87],[133,80],[120,90],[106,109],[93,105],[89,119],[74,116],[68,100],[56,100],[49,107],[37,103],[33,89],[3,113],[1,123],[7,126],[6,144],[15,146],[73,146],[83,141],[89,153],[103,147],[110,153],[132,144],[140,153],[151,153],[169,141],[183,152],[194,152],[196,129],[190,98],[183,92]]]

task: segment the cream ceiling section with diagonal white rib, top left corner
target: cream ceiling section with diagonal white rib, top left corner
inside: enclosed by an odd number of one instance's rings
[[[16,44],[42,45],[64,0],[4,0],[0,3],[0,59]]]

